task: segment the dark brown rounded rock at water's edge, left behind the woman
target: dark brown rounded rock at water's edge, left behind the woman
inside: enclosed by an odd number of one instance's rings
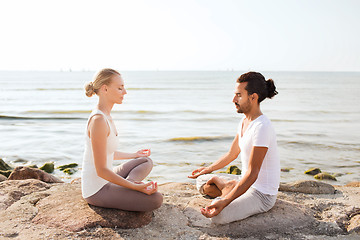
[[[23,179],[38,179],[47,183],[62,183],[57,177],[48,174],[37,168],[29,167],[16,167],[14,171],[10,174],[9,180],[23,180]]]

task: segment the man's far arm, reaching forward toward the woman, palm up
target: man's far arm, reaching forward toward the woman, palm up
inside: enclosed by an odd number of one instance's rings
[[[239,147],[239,134],[236,134],[230,150],[221,158],[219,158],[216,162],[211,164],[209,167],[201,167],[192,172],[192,175],[188,176],[189,178],[197,178],[198,176],[206,173],[211,173],[215,170],[221,169],[234,161],[237,156],[239,156],[240,147]]]

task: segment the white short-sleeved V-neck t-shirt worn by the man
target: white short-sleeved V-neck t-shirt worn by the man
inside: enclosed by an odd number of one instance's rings
[[[247,172],[253,147],[267,147],[267,153],[260,168],[257,180],[251,186],[264,194],[276,195],[280,184],[280,159],[277,151],[276,134],[270,120],[261,115],[250,122],[241,137],[242,123],[240,121],[239,147],[241,150],[242,175]]]

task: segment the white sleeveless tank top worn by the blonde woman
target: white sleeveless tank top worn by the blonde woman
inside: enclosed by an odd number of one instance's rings
[[[106,166],[109,169],[112,169],[114,152],[119,143],[118,137],[116,136],[116,129],[115,127],[112,126],[106,115],[99,109],[93,110],[88,118],[85,128],[85,138],[86,138],[85,151],[84,151],[84,158],[83,158],[82,171],[81,171],[81,190],[82,190],[83,198],[88,198],[94,195],[106,183],[108,183],[107,180],[99,177],[96,173],[95,164],[94,164],[94,155],[91,146],[91,139],[89,138],[88,135],[89,121],[96,114],[103,115],[110,128],[110,134],[107,137],[107,142],[106,142]]]

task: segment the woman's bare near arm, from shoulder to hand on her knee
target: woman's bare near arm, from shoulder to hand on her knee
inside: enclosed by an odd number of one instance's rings
[[[114,184],[149,195],[156,192],[157,187],[152,182],[147,184],[132,183],[107,168],[106,143],[108,134],[109,128],[104,117],[101,115],[95,115],[92,117],[89,123],[89,135],[91,139],[91,146],[93,150],[94,164],[97,175]]]

